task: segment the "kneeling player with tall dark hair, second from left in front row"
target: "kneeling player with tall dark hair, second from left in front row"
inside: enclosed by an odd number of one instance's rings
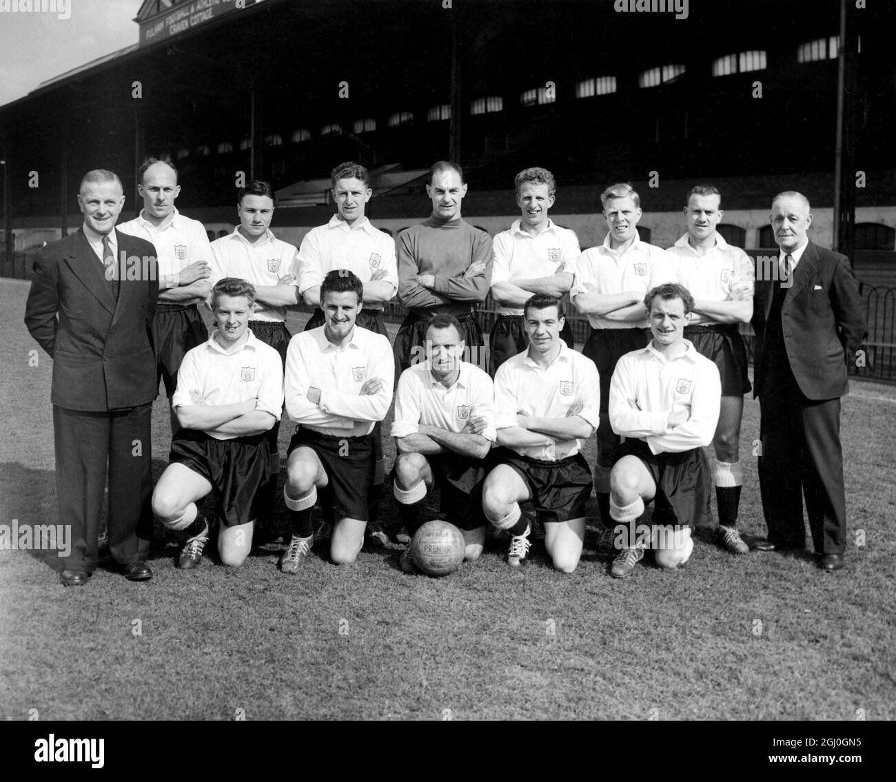
[[[328,271],[321,283],[323,326],[289,341],[284,395],[297,427],[283,492],[293,528],[280,559],[284,573],[296,573],[314,544],[318,490],[324,520],[333,525],[332,561],[352,563],[364,545],[367,494],[382,465],[374,426],[392,403],[395,365],[389,339],[355,323],[363,292],[351,271]]]

